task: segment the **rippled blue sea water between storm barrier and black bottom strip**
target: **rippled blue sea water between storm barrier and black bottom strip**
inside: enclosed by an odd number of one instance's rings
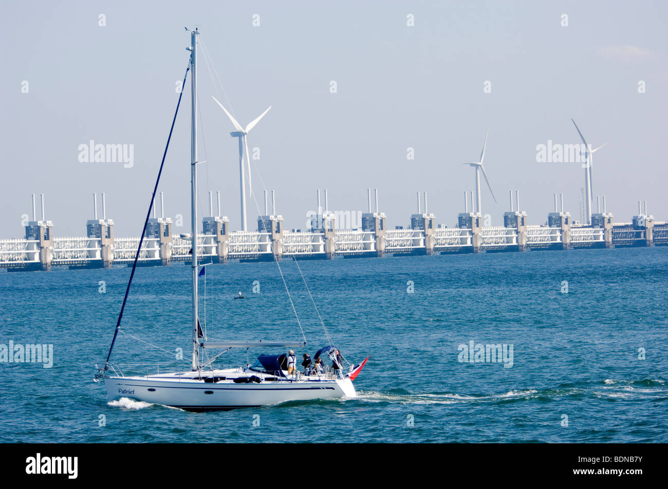
[[[0,442],[668,442],[668,248],[300,263],[345,358],[371,357],[359,398],[112,406],[94,364],[130,270],[3,273],[0,344],[53,344],[54,360],[0,363]],[[282,267],[313,355],[323,328],[295,264]],[[124,329],[167,353],[120,335],[112,361],[170,363],[182,348],[187,362],[188,272],[138,269]],[[276,264],[210,266],[206,292],[212,338],[301,338]],[[512,345],[512,367],[458,361],[470,340]]]

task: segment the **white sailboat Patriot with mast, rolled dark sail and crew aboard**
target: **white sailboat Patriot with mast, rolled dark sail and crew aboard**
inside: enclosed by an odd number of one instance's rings
[[[191,218],[192,218],[192,366],[190,370],[177,372],[163,372],[154,375],[146,374],[144,376],[126,376],[119,366],[110,363],[110,358],[118,332],[121,329],[121,320],[130,292],[130,284],[136,270],[136,264],[142,248],[142,240],[146,234],[146,223],[150,215],[151,206],[158,189],[160,174],[164,165],[164,159],[169,146],[169,141],[174,129],[176,113],[181,101],[176,106],[172,129],[167,141],[167,147],[162,157],[158,179],[154,187],[153,198],[144,222],[144,231],[140,238],[139,247],[135,261],[130,274],[130,280],[126,288],[126,295],[121,306],[121,311],[116,323],[114,338],[110,346],[104,367],[98,367],[96,373],[96,382],[103,382],[109,401],[120,398],[130,398],[152,404],[163,404],[182,408],[184,410],[205,411],[205,410],[230,410],[234,408],[248,408],[257,406],[267,406],[269,404],[279,404],[287,401],[296,400],[317,400],[326,398],[353,398],[357,396],[353,387],[353,380],[361,371],[368,360],[361,364],[349,365],[344,368],[341,362],[341,356],[338,354],[335,346],[331,344],[321,348],[315,354],[315,360],[328,357],[333,360],[332,368],[323,368],[322,362],[317,362],[313,367],[308,367],[300,372],[297,370],[295,357],[289,354],[293,350],[286,352],[287,349],[306,348],[306,338],[303,336],[303,342],[299,341],[267,341],[257,340],[253,342],[227,341],[227,342],[209,342],[206,341],[202,333],[198,317],[198,250],[197,250],[197,79],[196,79],[196,61],[197,61],[197,37],[198,29],[190,31],[190,46],[186,49],[190,51],[190,60],[188,70],[191,77],[192,91],[192,113],[191,113]],[[280,268],[279,268],[280,270]],[[301,270],[300,270],[301,273]],[[310,294],[310,291],[309,291]],[[315,302],[314,302],[315,306]],[[324,323],[323,323],[324,327]],[[301,326],[300,326],[301,328]],[[329,334],[327,334],[329,339]],[[247,364],[236,368],[215,368],[213,363],[220,358],[222,354],[232,348],[283,348],[281,354],[260,355],[254,364]],[[216,352],[206,362],[200,360],[200,353],[204,350],[213,350]],[[203,354],[209,358],[208,352]],[[289,364],[291,364],[289,366]],[[292,367],[292,368],[290,368]]]

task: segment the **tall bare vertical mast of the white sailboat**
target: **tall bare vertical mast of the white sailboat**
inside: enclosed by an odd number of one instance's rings
[[[190,31],[190,83],[192,113],[190,126],[190,220],[192,223],[192,370],[199,370],[199,338],[197,334],[197,35]]]

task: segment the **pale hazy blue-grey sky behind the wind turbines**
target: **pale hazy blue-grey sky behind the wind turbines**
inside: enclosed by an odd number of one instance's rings
[[[478,161],[487,129],[498,202],[484,188],[482,211],[494,225],[510,189],[530,223],[545,221],[554,192],[579,218],[581,165],[536,163],[548,139],[580,142],[571,117],[594,147],[611,141],[596,153],[593,191],[615,220],[630,221],[639,199],[668,219],[665,2],[2,3],[1,238],[23,235],[31,193],[45,193],[54,235],[84,235],[95,191],[106,192],[116,235],[139,235],[194,25],[226,93],[200,55],[200,204],[208,213],[206,191],[220,190],[232,229],[238,150],[216,91],[242,125],[272,105],[248,136],[261,150],[253,189],[263,207],[259,170],[286,228],[305,227],[316,189],[329,189],[331,210],[366,211],[367,187],[379,189],[390,226],[408,225],[415,191],[453,225],[474,188],[462,163]],[[184,215],[175,232],[190,219],[189,119],[188,82],[160,185],[166,215]],[[80,163],[91,139],[134,145],[134,166]],[[249,200],[251,228],[256,215]]]

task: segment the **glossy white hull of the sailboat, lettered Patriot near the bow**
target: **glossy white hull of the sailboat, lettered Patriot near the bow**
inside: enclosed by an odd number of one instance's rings
[[[194,411],[230,410],[287,401],[357,396],[349,378],[235,384],[231,380],[207,383],[203,380],[167,378],[166,374],[162,374],[106,377],[104,385],[109,401],[130,398]]]

